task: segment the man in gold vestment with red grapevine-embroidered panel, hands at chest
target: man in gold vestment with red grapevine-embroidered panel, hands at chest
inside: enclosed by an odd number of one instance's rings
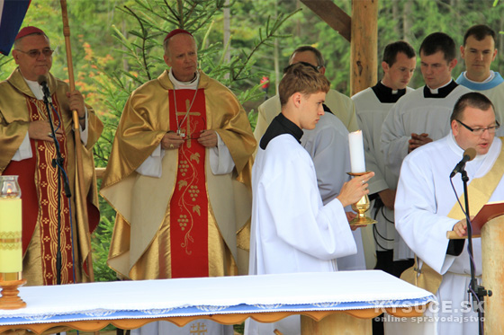
[[[188,31],[164,42],[162,75],[122,112],[101,194],[117,211],[109,266],[124,278],[236,275],[256,140],[228,88],[197,69]]]

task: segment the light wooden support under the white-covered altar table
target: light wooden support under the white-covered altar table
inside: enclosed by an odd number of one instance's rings
[[[359,319],[345,313],[328,315],[320,322],[301,316],[302,335],[371,335],[371,319]]]

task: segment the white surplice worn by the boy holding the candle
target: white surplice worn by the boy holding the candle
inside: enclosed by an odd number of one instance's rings
[[[336,258],[356,253],[344,207],[338,199],[322,204],[310,154],[292,135],[258,149],[252,193],[249,275],[335,271]],[[246,333],[297,334],[299,320],[250,322]]]

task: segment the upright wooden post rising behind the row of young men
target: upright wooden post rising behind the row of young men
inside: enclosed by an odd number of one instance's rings
[[[374,86],[378,80],[378,0],[352,1],[350,93]]]

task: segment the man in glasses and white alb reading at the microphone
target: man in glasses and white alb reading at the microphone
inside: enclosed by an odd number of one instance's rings
[[[453,230],[459,236],[467,232],[465,216],[457,202],[460,198],[464,206],[464,184],[460,174],[453,178],[450,174],[464,152],[473,148],[476,155],[465,164],[465,172],[469,178],[470,214],[475,215],[487,202],[504,200],[504,154],[500,137],[495,137],[499,123],[493,105],[482,93],[462,95],[455,103],[450,122],[450,134],[417,148],[404,159],[395,222],[404,241],[418,256],[421,274],[432,274],[429,281],[440,284],[430,288],[441,304],[437,333],[469,335],[478,333],[478,315],[473,312],[467,293],[471,279],[467,242],[446,238],[447,231]],[[480,238],[473,238],[473,261],[475,275],[481,282]],[[428,310],[426,316],[429,315]],[[391,322],[392,326],[400,323]],[[427,325],[420,322],[410,326]]]

